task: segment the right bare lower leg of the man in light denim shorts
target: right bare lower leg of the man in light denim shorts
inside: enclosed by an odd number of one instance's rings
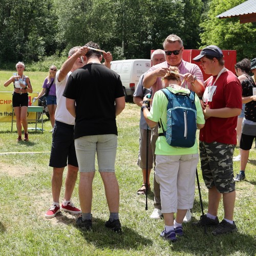
[[[119,186],[115,173],[100,172],[110,212],[119,211]]]

